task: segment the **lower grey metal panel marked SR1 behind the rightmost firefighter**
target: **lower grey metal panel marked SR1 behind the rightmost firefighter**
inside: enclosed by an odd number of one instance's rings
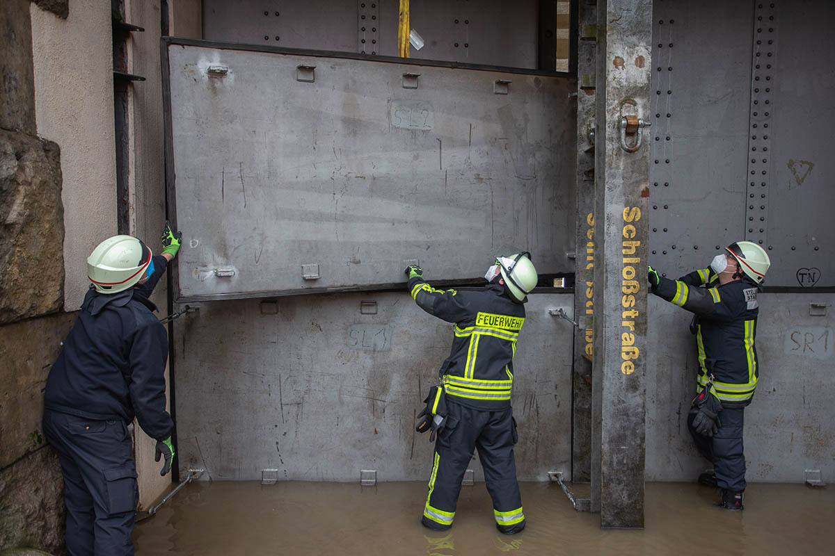
[[[772,259],[773,260],[773,259]],[[832,428],[835,293],[761,293],[757,321],[757,393],[745,412],[746,478],[802,483],[805,469],[835,478]],[[810,303],[828,303],[812,316]],[[691,481],[709,464],[687,431],[696,395],[696,340],[691,313],[650,298],[646,389],[646,478]],[[828,333],[827,333],[828,331]]]

